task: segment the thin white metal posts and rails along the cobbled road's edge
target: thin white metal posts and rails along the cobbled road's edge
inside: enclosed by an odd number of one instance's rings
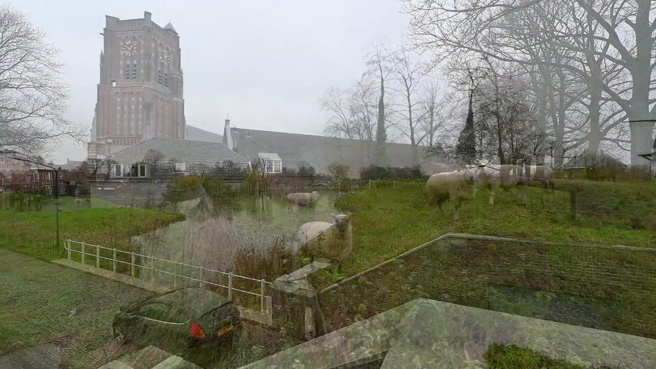
[[[79,250],[73,250],[72,246],[73,245],[79,245]],[[232,272],[222,272],[222,271],[216,271],[214,269],[208,269],[205,267],[199,267],[197,265],[190,265],[186,263],[181,263],[180,261],[171,261],[167,259],[160,259],[159,257],[154,257],[154,256],[149,256],[149,255],[142,255],[140,253],[134,253],[134,252],[128,252],[128,251],[122,251],[122,250],[117,250],[117,249],[112,249],[112,248],[105,248],[103,246],[98,246],[98,245],[91,245],[87,244],[85,242],[78,242],[78,241],[73,241],[73,240],[66,240],[66,244],[64,245],[64,248],[66,248],[66,257],[68,260],[72,260],[72,253],[79,253],[81,255],[81,263],[87,264],[87,256],[91,256],[94,258],[96,261],[96,268],[100,268],[100,260],[104,259],[107,261],[112,262],[112,271],[116,272],[116,267],[119,264],[125,264],[130,266],[130,276],[135,276],[134,272],[136,268],[142,268],[142,269],[147,269],[150,271],[154,272],[161,272],[164,274],[168,274],[170,276],[173,276],[173,287],[178,287],[178,284],[181,286],[184,285],[184,281],[194,281],[198,282],[199,287],[205,287],[206,285],[211,285],[211,286],[216,286],[220,288],[225,288],[227,293],[228,293],[228,299],[232,301],[233,293],[245,293],[247,295],[253,295],[253,296],[258,296],[260,298],[260,311],[266,311],[269,313],[270,309],[270,299],[271,297],[266,295],[266,287],[271,284],[271,282],[267,282],[264,279],[255,279],[255,278],[250,278],[247,276],[240,276],[237,274],[234,274]],[[101,250],[108,250],[112,251],[112,257],[105,257],[102,256],[100,251]],[[92,251],[90,253],[89,251]],[[130,262],[127,261],[122,261],[117,259],[117,255],[121,254],[126,254],[129,255],[130,257]],[[146,265],[140,265],[138,263],[134,263],[134,260],[136,257],[140,257],[142,261],[151,261],[151,266],[148,267]],[[155,260],[156,261],[161,261],[163,263],[170,263],[170,265],[173,266],[173,271],[165,271],[162,269],[157,269],[155,268]],[[145,263],[144,263],[145,264]],[[193,276],[189,275],[184,275],[184,267],[188,267],[192,270],[197,270],[198,271],[198,278],[194,278]],[[207,275],[207,273],[216,273],[219,275],[226,276],[228,278],[228,284],[218,284],[215,282],[210,282],[209,280],[203,280],[203,275]],[[237,280],[247,280],[251,282],[256,282],[260,286],[260,291],[259,292],[251,292],[251,291],[246,291],[246,290],[241,290],[239,288],[236,288],[233,285],[233,282],[237,278]],[[179,279],[179,283],[178,283]]]

